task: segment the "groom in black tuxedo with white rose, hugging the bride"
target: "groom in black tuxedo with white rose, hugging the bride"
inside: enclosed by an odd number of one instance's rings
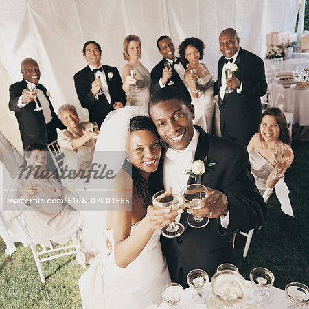
[[[163,187],[181,192],[192,183],[209,188],[203,208],[187,209],[181,214],[183,234],[178,238],[161,237],[172,282],[187,286],[187,273],[194,268],[205,270],[211,277],[220,264],[235,263],[233,233],[260,227],[266,205],[255,187],[246,148],[193,126],[194,106],[179,89],[157,91],[150,99],[149,111],[161,139],[168,144],[163,162],[150,175],[150,192]],[[216,165],[205,166],[197,181],[185,174],[193,161],[203,161],[206,156],[208,163]],[[187,213],[208,217],[209,223],[199,229],[190,227]]]

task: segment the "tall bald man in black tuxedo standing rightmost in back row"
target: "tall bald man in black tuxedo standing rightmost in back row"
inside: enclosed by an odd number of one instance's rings
[[[266,93],[264,62],[239,45],[236,30],[225,29],[219,36],[222,57],[218,62],[218,81],[214,94],[218,94],[220,130],[227,137],[247,146],[258,132],[262,115],[260,97]],[[237,67],[236,67],[237,66]],[[236,69],[233,77],[225,78],[225,69]],[[233,92],[225,93],[229,87]]]

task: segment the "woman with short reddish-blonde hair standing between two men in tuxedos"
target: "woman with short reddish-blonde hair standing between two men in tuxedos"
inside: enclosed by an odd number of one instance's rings
[[[124,60],[128,60],[122,71],[124,84],[122,89],[130,91],[130,106],[137,105],[148,110],[150,99],[150,73],[144,65],[141,64],[141,39],[138,36],[130,34],[124,38]],[[131,76],[131,72],[136,76]]]

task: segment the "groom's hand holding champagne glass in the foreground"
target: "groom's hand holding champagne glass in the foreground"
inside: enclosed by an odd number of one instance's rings
[[[227,207],[227,196],[218,190],[207,189],[208,196],[201,201],[202,208],[187,209],[187,213],[193,216],[209,217],[212,219],[226,215],[229,210]]]

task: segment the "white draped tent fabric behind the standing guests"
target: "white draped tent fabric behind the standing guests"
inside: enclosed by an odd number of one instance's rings
[[[141,38],[143,64],[151,70],[161,56],[159,36],[168,34],[175,47],[196,36],[206,45],[203,62],[220,58],[218,36],[234,27],[240,45],[260,56],[266,51],[267,32],[295,29],[300,0],[1,0],[0,66],[1,132],[21,148],[14,113],[8,111],[8,87],[21,80],[21,60],[34,58],[41,83],[52,93],[54,108],[72,103],[81,119],[87,111],[78,102],[73,75],[86,61],[85,41],[102,46],[102,62],[122,73],[122,41],[128,34]],[[12,114],[9,115],[8,114]],[[14,129],[12,129],[14,127]],[[10,134],[9,134],[10,128]],[[12,137],[12,132],[15,132]]]

